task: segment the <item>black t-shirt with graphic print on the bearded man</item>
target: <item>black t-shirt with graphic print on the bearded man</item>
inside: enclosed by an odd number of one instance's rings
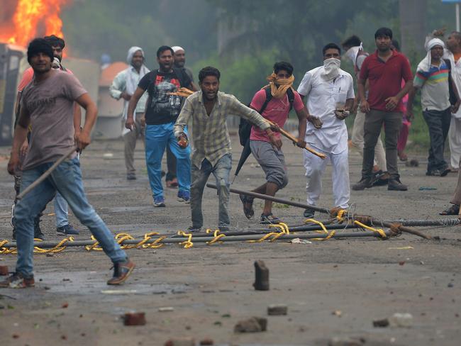
[[[187,74],[178,74],[181,72],[177,69],[168,73],[151,71],[139,81],[138,86],[149,94],[145,111],[146,124],[161,125],[176,121],[181,111],[182,97],[170,93],[177,91],[181,86],[187,87],[191,84]]]

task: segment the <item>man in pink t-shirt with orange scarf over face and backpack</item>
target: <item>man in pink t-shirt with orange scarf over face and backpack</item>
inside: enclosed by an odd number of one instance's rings
[[[250,107],[258,111],[263,118],[283,128],[288,119],[289,111],[294,108],[298,116],[298,143],[299,147],[305,147],[304,136],[306,135],[306,120],[314,123],[316,128],[321,127],[320,119],[310,116],[304,108],[301,96],[294,91],[293,66],[289,62],[276,62],[274,72],[267,77],[269,84],[257,91],[253,97]],[[280,139],[280,133],[274,135]],[[282,143],[281,143],[282,144]],[[267,133],[260,128],[251,128],[250,148],[252,155],[260,164],[266,174],[266,182],[252,191],[258,194],[275,196],[279,189],[283,189],[288,184],[287,167],[285,165],[282,147],[272,145]],[[253,199],[240,195],[243,203],[243,212],[247,218],[254,214],[252,209]],[[260,217],[260,223],[270,224],[281,222],[279,218],[272,215],[272,201],[265,201],[264,209]]]

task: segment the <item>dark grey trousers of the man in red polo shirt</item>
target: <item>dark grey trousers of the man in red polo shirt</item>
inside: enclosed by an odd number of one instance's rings
[[[365,116],[362,179],[372,177],[374,147],[384,124],[387,172],[391,179],[399,179],[397,168],[397,142],[402,123],[401,112],[386,112],[372,109]]]

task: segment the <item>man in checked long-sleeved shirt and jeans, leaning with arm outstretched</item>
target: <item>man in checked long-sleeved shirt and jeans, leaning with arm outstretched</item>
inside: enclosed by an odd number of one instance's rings
[[[189,230],[200,230],[204,218],[201,213],[201,198],[206,181],[211,173],[216,178],[219,195],[218,228],[228,230],[230,219],[229,174],[232,164],[230,136],[226,125],[228,115],[241,116],[248,119],[262,130],[265,130],[274,147],[281,147],[282,141],[275,136],[260,113],[243,105],[233,95],[219,91],[221,73],[214,67],[204,67],[199,72],[200,91],[186,99],[176,124],[174,136],[180,147],[187,147],[189,140],[184,129],[192,120],[191,135],[194,140],[191,157],[191,214],[192,226]]]

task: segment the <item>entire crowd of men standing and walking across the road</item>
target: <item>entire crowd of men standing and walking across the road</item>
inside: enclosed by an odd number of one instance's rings
[[[407,160],[404,147],[418,90],[421,90],[423,117],[431,138],[426,174],[443,177],[450,172],[443,157],[447,137],[450,138],[450,164],[452,168],[460,166],[461,135],[457,129],[461,126],[458,94],[461,33],[451,33],[446,48],[443,40],[435,37],[440,34],[443,33],[435,31],[428,37],[428,53],[418,64],[414,79],[409,60],[399,52],[392,31],[379,28],[374,34],[377,49],[372,54],[365,52],[355,35],[342,44],[345,56],[355,68],[357,95],[351,74],[340,68],[340,46],[329,43],[322,51],[323,63],[304,74],[297,90],[293,88],[294,67],[289,62],[276,62],[267,77],[269,84],[257,91],[249,106],[219,91],[221,72],[215,67],[201,69],[199,85],[194,84],[193,74],[184,66],[184,48],[166,45],[158,48],[158,68],[150,71],[145,66],[143,49],[132,47],[128,50],[128,68],[117,74],[110,88],[113,98],[123,99],[126,178],[136,179],[133,154],[137,139],[143,137],[153,206],[166,206],[162,157],[167,149],[170,154],[167,154],[166,186],[177,187],[178,201],[190,203],[189,230],[197,231],[204,225],[201,199],[210,174],[216,178],[218,189],[218,228],[229,230],[232,154],[226,118],[240,116],[250,123],[248,144],[265,173],[265,182],[253,191],[274,196],[289,181],[280,130],[294,109],[299,122],[296,145],[301,148],[307,145],[326,157],[322,160],[304,150],[307,203],[311,206],[318,203],[322,177],[331,162],[335,207],[347,209],[350,177],[345,118],[356,113],[352,144],[362,155],[362,177],[352,184],[352,189],[387,184],[390,191],[406,191],[397,162],[399,158]],[[65,155],[69,157],[16,203],[12,223],[18,262],[16,272],[1,281],[0,287],[34,285],[33,238],[43,236],[38,233],[37,218],[39,220],[40,213],[57,194],[62,203],[69,203],[74,215],[89,228],[113,262],[113,278],[108,284],[123,283],[135,267],[84,194],[78,151],[90,143],[97,110],[78,79],[62,67],[64,46],[64,41],[55,36],[37,38],[28,46],[31,69],[26,72],[18,94],[18,121],[9,173],[18,177],[16,186],[18,191],[23,191],[53,162]],[[80,106],[86,111],[83,127]],[[189,124],[192,125],[190,133]],[[380,138],[383,125],[384,145]],[[443,215],[459,213],[461,177],[458,179],[452,206],[443,211]],[[240,195],[240,200],[245,216],[252,218],[253,199]],[[57,231],[78,233],[67,221],[67,205],[55,206],[57,208],[62,209],[62,218],[66,216],[65,221],[57,224]],[[313,216],[311,208],[304,211],[304,217]],[[281,220],[272,214],[272,203],[266,201],[260,223],[279,222]]]

